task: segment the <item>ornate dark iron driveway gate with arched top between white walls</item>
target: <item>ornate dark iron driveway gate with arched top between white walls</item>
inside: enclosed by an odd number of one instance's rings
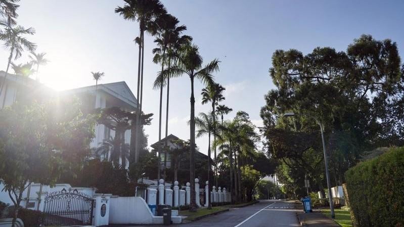
[[[94,200],[74,190],[49,193],[44,199],[44,225],[92,224]]]

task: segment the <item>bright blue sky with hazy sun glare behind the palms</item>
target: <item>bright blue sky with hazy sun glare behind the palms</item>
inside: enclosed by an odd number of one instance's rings
[[[226,87],[225,104],[233,112],[246,111],[254,124],[262,125],[259,110],[264,95],[275,86],[268,75],[272,54],[297,49],[304,54],[316,47],[346,50],[361,34],[376,39],[390,38],[404,50],[404,1],[230,1],[163,0],[168,13],[177,17],[194,38],[205,63],[221,61],[215,80]],[[100,83],[126,81],[136,94],[138,48],[133,42],[139,34],[136,22],[125,21],[114,13],[121,0],[21,0],[18,23],[33,27],[27,37],[46,52],[48,65],[39,68],[41,82],[57,89],[95,84],[92,71],[105,72]],[[144,98],[145,113],[154,113],[146,126],[149,145],[158,141],[159,92],[152,84],[160,67],[152,62],[153,37],[145,39]],[[5,70],[9,53],[0,49],[0,70]],[[28,61],[28,53],[15,63]],[[3,64],[3,66],[1,65]],[[12,71],[11,71],[12,72]],[[196,83],[195,112],[207,112],[201,105]],[[164,90],[164,93],[166,90]],[[188,140],[190,131],[190,80],[184,76],[170,81],[168,133]],[[165,95],[164,95],[165,97]],[[163,103],[166,100],[164,98]],[[165,110],[165,105],[163,106]],[[165,111],[163,122],[165,125]],[[164,134],[164,126],[162,130]],[[207,138],[196,140],[207,153]]]

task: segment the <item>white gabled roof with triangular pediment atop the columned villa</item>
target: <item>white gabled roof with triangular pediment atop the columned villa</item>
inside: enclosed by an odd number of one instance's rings
[[[93,92],[95,88],[96,85],[91,85],[65,90],[63,92],[71,94],[88,93]],[[98,84],[97,89],[99,91],[102,90],[105,93],[116,97],[117,99],[121,100],[122,102],[125,102],[126,104],[132,106],[133,108],[136,108],[138,104],[138,100],[136,99],[136,97],[134,97],[132,91],[130,90],[129,86],[126,84],[125,81]]]

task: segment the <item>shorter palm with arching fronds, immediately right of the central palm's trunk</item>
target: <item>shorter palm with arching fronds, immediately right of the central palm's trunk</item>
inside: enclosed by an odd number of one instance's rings
[[[195,125],[198,127],[198,132],[196,137],[202,137],[203,135],[208,135],[208,176],[207,180],[209,181],[210,175],[210,135],[214,133],[215,129],[215,121],[210,114],[199,113],[199,117],[195,117]],[[208,190],[210,192],[210,190]],[[208,209],[212,209],[210,204],[210,196],[208,196]]]

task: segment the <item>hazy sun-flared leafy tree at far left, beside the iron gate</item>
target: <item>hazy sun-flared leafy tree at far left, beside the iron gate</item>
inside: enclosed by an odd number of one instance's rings
[[[17,207],[13,222],[30,183],[53,185],[61,174],[81,168],[89,154],[95,120],[68,104],[17,103],[0,110],[0,179]]]

